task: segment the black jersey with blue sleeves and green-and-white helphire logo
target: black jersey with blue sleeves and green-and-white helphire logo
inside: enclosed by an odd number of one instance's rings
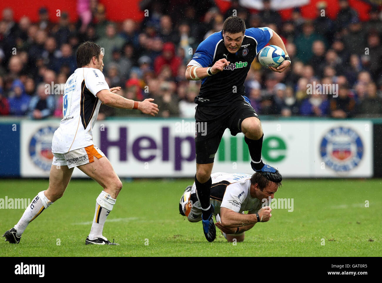
[[[202,86],[195,103],[208,106],[227,106],[244,96],[244,80],[257,53],[272,38],[268,27],[246,29],[240,49],[231,54],[224,46],[223,31],[215,32],[197,47],[188,66],[211,67],[219,59],[230,62],[223,71],[202,79]]]

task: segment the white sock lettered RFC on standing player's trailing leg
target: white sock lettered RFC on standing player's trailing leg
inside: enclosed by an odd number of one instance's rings
[[[24,233],[25,228],[32,222],[37,216],[48,208],[52,202],[44,195],[44,191],[40,191],[37,196],[34,197],[29,206],[25,209],[23,216],[21,216],[19,222],[15,225],[16,236],[21,236]]]

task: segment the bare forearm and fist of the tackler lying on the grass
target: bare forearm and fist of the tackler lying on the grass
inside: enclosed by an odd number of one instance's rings
[[[259,214],[260,222],[267,222],[272,217],[272,209],[269,206],[262,207]],[[226,207],[220,207],[220,219],[222,226],[227,228],[235,228],[239,226],[252,225],[257,223],[256,214],[241,214]]]

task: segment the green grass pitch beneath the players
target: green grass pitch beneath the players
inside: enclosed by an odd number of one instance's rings
[[[121,246],[86,246],[101,187],[72,180],[63,198],[28,226],[20,244],[0,238],[0,256],[382,256],[380,179],[284,180],[275,198],[293,198],[294,211],[274,209],[269,222],[256,224],[236,246],[221,236],[208,243],[201,223],[179,214],[178,201],[191,183],[124,182],[104,228],[104,236]],[[47,180],[1,180],[0,198],[32,199],[47,185]],[[0,209],[0,233],[22,214],[23,209]]]

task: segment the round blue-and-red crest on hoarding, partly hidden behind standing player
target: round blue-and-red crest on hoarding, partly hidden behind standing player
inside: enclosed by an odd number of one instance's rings
[[[49,172],[52,166],[52,138],[57,127],[42,127],[29,140],[28,153],[32,162],[44,171]]]

